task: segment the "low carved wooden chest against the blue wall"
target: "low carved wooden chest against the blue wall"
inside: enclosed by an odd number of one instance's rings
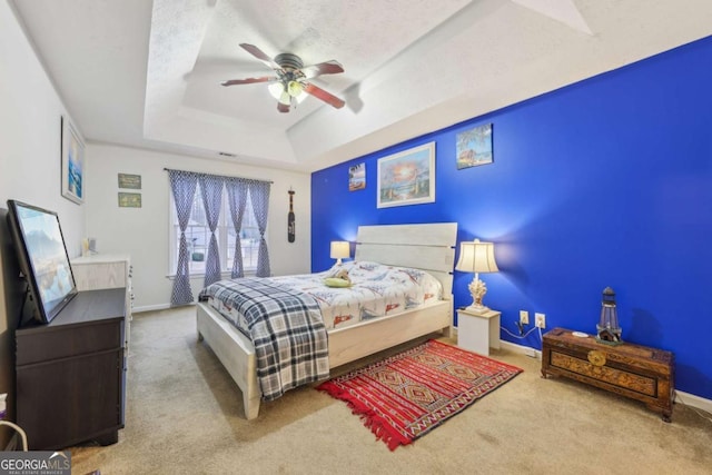
[[[565,376],[641,400],[663,420],[671,420],[672,353],[631,343],[610,346],[594,336],[577,337],[564,328],[554,328],[543,339],[542,377]]]

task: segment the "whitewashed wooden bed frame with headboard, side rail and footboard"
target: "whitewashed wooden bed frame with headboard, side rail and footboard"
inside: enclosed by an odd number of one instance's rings
[[[360,226],[356,261],[422,269],[442,285],[442,299],[378,319],[328,329],[328,366],[338,367],[424,335],[449,336],[456,222]],[[198,340],[207,343],[243,393],[245,416],[257,417],[263,398],[255,346],[217,309],[197,304]]]

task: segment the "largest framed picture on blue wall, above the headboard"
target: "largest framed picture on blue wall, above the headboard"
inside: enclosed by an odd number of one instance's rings
[[[378,159],[378,208],[435,201],[435,142]]]

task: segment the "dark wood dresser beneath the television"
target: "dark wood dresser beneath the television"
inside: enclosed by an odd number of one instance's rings
[[[49,324],[16,330],[17,422],[30,449],[118,441],[125,317],[125,288],[89,290]]]

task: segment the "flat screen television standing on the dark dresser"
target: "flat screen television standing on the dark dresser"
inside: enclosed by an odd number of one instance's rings
[[[50,323],[77,295],[75,276],[57,212],[8,200],[8,224],[24,275],[33,318]]]

